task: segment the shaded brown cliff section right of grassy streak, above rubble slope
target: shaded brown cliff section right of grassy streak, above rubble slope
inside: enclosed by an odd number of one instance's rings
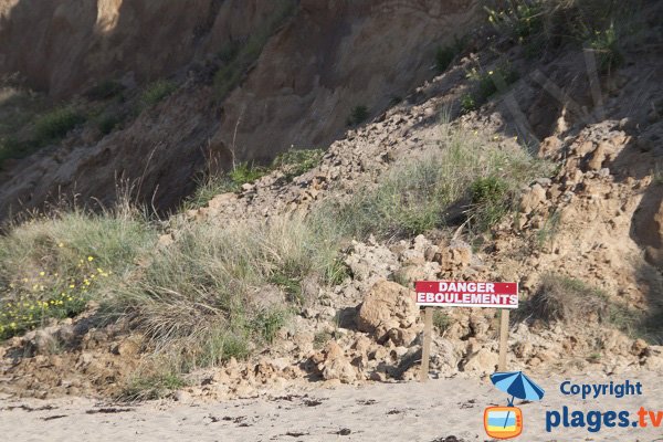
[[[467,33],[469,1],[305,0],[223,104],[213,147],[269,158],[284,146],[325,147],[350,109],[375,115],[434,73],[440,42]],[[236,137],[234,128],[238,128]],[[233,143],[234,141],[234,143]]]

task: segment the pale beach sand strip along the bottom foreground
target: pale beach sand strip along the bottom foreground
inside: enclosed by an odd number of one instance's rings
[[[545,413],[561,410],[663,411],[663,382],[652,372],[573,376],[577,383],[642,382],[642,396],[582,400],[559,391],[564,377],[537,379],[546,390],[540,402],[519,404],[525,429],[519,441],[663,441],[654,429],[558,428],[545,430]],[[491,440],[483,411],[506,404],[490,381],[431,380],[425,385],[373,383],[314,388],[290,394],[191,403],[154,401],[138,406],[91,399],[0,400],[2,441],[463,441]],[[518,402],[516,402],[518,406]],[[453,441],[453,439],[448,439]]]

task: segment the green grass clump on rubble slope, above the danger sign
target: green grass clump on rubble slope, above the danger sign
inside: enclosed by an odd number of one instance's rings
[[[523,183],[546,170],[547,164],[524,150],[504,151],[483,137],[451,130],[440,149],[391,169],[349,201],[327,203],[320,217],[347,236],[407,238],[445,225],[450,207],[465,201],[469,225],[478,233],[511,210]]]

